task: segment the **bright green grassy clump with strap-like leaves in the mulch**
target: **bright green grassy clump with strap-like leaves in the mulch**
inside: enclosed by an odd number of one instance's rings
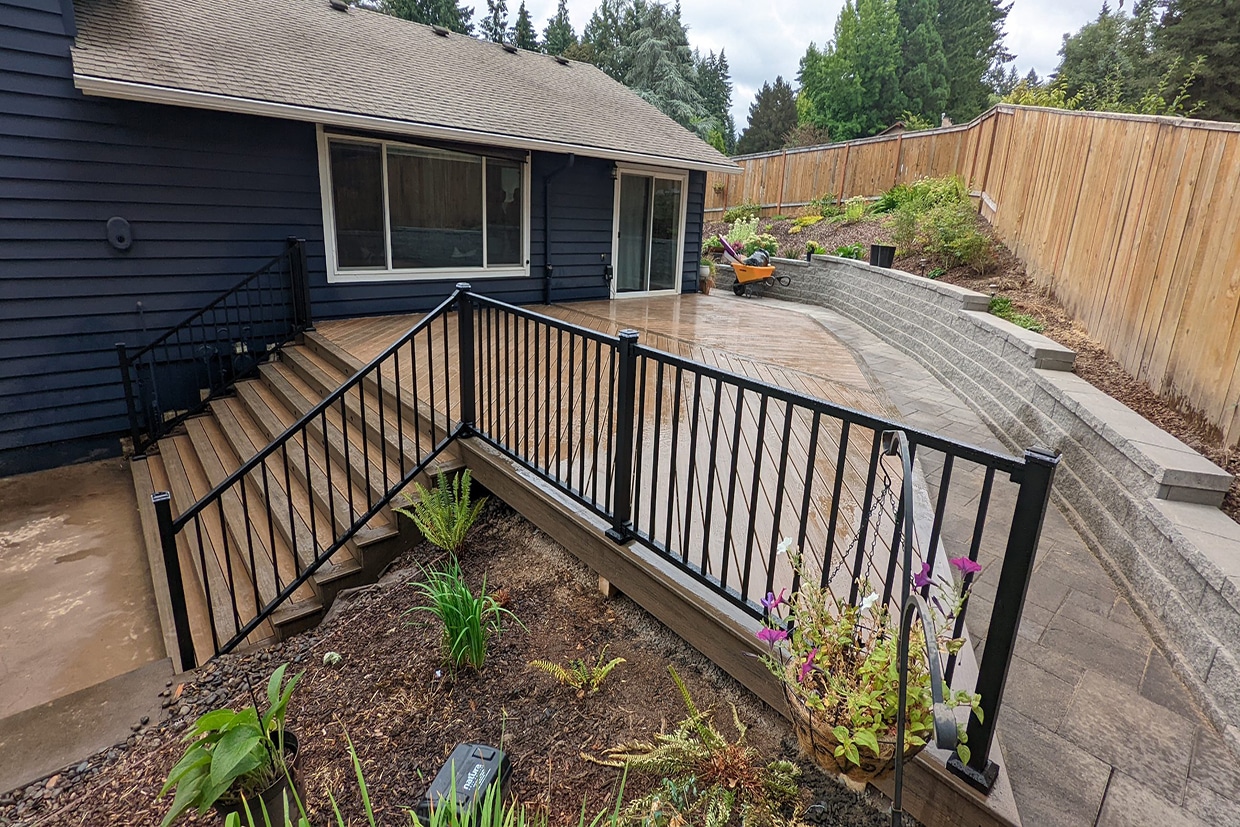
[[[470,590],[455,558],[443,569],[422,572],[423,579],[413,586],[430,605],[414,606],[405,614],[428,611],[439,619],[444,625],[444,653],[453,667],[469,665],[481,670],[486,662],[487,641],[500,634],[505,616],[525,629],[516,615],[487,594],[485,578],[477,594]]]

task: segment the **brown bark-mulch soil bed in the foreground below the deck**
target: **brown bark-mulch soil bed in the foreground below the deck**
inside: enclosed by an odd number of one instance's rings
[[[587,756],[622,741],[649,740],[684,717],[668,677],[675,666],[701,705],[713,705],[722,732],[734,736],[729,703],[749,724],[746,743],[761,755],[791,758],[795,739],[784,719],[625,598],[604,599],[575,558],[502,503],[487,507],[461,565],[476,588],[484,577],[528,631],[508,622],[492,640],[481,672],[450,673],[440,657],[440,627],[419,613],[410,580],[429,546],[402,557],[381,583],[337,600],[315,630],[247,655],[224,656],[185,684],[170,687],[169,718],[128,745],[89,756],[62,772],[0,796],[0,826],[155,825],[170,798],[156,798],[180,758],[181,734],[203,712],[250,703],[247,682],[263,692],[281,662],[305,670],[289,708],[301,743],[299,775],[314,825],[335,823],[331,791],[347,823],[365,823],[346,733],[361,758],[381,825],[408,825],[414,806],[460,741],[501,745],[513,764],[512,795],[541,808],[552,825],[577,825],[583,803],[594,813],[614,805],[620,771]],[[527,667],[546,658],[565,663],[624,657],[595,696],[578,697]],[[336,667],[324,655],[339,652]],[[291,670],[290,670],[291,672]],[[857,796],[801,763],[801,808],[825,825],[888,823],[882,798]],[[630,776],[629,794],[653,779]],[[817,803],[816,803],[817,802]],[[212,815],[187,822],[219,823]]]

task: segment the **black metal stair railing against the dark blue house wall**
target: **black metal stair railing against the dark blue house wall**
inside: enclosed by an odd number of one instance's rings
[[[144,347],[119,342],[134,454],[203,410],[310,325],[305,241],[290,238],[283,253]]]

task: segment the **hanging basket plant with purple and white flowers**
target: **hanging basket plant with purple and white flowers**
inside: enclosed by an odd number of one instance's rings
[[[780,543],[787,553],[791,541]],[[763,599],[766,619],[758,637],[768,643],[763,661],[779,679],[792,718],[797,743],[806,755],[828,772],[837,772],[853,785],[887,777],[895,766],[899,709],[899,617],[892,616],[877,593],[863,583],[856,605],[835,598],[820,578],[806,573],[800,555],[790,554],[800,586]],[[951,567],[977,573],[981,567],[967,557]],[[918,589],[931,586],[935,595],[936,648],[949,655],[960,651],[963,640],[950,630],[968,596],[968,589],[952,579],[932,579],[929,564],[913,579]],[[940,631],[942,630],[942,631]],[[911,652],[924,652],[919,625],[913,627]],[[981,715],[976,693],[951,692],[944,687],[951,707],[966,705]],[[905,760],[926,744],[934,732],[930,670],[924,658],[913,657],[908,673],[905,715]],[[968,761],[965,725],[957,724],[957,753]]]

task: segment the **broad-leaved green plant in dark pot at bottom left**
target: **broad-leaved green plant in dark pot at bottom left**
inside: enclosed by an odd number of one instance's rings
[[[298,739],[284,729],[284,714],[293,689],[305,673],[299,672],[285,683],[286,667],[284,663],[272,673],[267,683],[268,708],[262,715],[255,702],[241,712],[215,709],[190,728],[185,736],[190,745],[160,790],[164,796],[176,787],[162,827],[190,808],[201,816],[213,806],[227,818],[247,808],[275,815],[284,810],[281,800],[293,801]]]

